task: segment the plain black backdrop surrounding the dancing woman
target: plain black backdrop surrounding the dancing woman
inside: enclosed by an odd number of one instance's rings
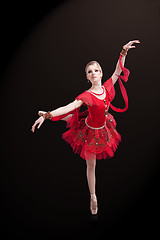
[[[7,237],[131,238],[157,234],[159,218],[160,2],[74,0],[1,8],[1,219]],[[90,215],[86,164],[61,135],[65,122],[31,132],[39,110],[66,105],[90,87],[97,60],[103,81],[130,40],[127,112],[115,113],[122,142],[97,161],[99,213]],[[114,105],[123,107],[118,83]]]

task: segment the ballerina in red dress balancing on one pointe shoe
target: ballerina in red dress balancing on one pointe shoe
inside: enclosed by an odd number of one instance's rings
[[[40,116],[32,126],[39,129],[44,120],[64,120],[67,122],[68,131],[63,133],[63,139],[86,160],[87,181],[90,192],[90,210],[97,214],[98,203],[96,197],[96,160],[107,159],[114,153],[121,141],[121,135],[116,130],[116,121],[109,113],[109,107],[114,111],[124,112],[128,109],[128,96],[121,80],[128,80],[130,71],[124,67],[127,52],[135,48],[133,44],[139,40],[129,41],[123,45],[113,75],[102,85],[102,68],[96,61],[89,62],[85,67],[86,77],[91,82],[90,89],[77,96],[70,104],[53,111],[39,111]],[[123,71],[123,75],[120,75]],[[119,80],[120,89],[125,101],[125,108],[114,107],[111,102],[115,96],[114,84]],[[79,112],[82,105],[87,105],[87,110]]]

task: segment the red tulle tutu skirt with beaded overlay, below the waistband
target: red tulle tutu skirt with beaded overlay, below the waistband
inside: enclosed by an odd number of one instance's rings
[[[93,153],[97,160],[113,157],[121,141],[113,116],[107,114],[105,126],[101,129],[90,128],[85,119],[86,117],[80,119],[78,128],[74,126],[63,133],[63,139],[71,145],[74,153],[85,160],[92,159]]]

